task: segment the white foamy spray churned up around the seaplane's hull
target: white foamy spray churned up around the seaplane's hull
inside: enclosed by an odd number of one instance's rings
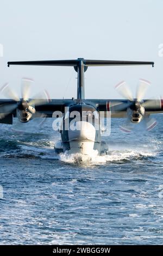
[[[105,155],[98,155],[97,150],[93,150],[93,152],[90,155],[84,155],[84,154],[68,154],[68,151],[66,153],[57,154],[55,153],[53,149],[54,142],[49,141],[48,146],[47,145],[40,145],[43,144],[40,142],[27,142],[22,143],[23,145],[20,145],[20,147],[23,150],[23,154],[33,154],[34,156],[39,156],[42,159],[54,159],[54,160],[60,160],[67,163],[94,163],[94,164],[101,164],[101,163],[107,163],[107,162],[117,162],[117,161],[123,161],[123,160],[129,160],[129,159],[137,159],[139,157],[148,157],[148,156],[155,156],[157,154],[156,150],[151,150],[149,148],[143,148],[140,150],[139,148],[109,148],[109,153]]]

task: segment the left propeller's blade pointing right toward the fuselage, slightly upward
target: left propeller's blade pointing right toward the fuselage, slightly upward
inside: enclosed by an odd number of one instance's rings
[[[49,95],[46,90],[43,90],[43,92],[38,93],[34,96],[34,99],[31,99],[28,103],[29,105],[34,106],[40,106],[47,104],[50,100]]]

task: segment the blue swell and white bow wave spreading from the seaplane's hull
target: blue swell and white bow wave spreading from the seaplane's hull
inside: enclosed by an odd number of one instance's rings
[[[40,145],[41,144],[41,145]],[[107,163],[107,162],[120,162],[133,159],[142,159],[143,157],[156,156],[156,150],[149,150],[147,148],[139,149],[116,149],[109,150],[108,154],[98,155],[98,152],[94,150],[90,155],[83,154],[68,154],[55,153],[53,149],[53,141],[41,141],[41,142],[9,142],[8,150],[1,152],[1,157],[40,157],[41,159],[53,159],[60,160],[67,163]],[[41,146],[41,147],[40,147]]]

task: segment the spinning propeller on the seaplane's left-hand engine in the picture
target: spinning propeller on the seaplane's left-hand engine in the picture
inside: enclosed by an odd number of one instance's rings
[[[18,95],[9,87],[8,83],[0,89],[2,94],[8,99],[13,100],[12,103],[5,103],[0,106],[0,119],[5,118],[13,111],[17,112],[20,121],[29,121],[33,114],[35,114],[35,106],[44,105],[49,102],[48,93],[43,92],[34,96],[33,99],[29,99],[30,88],[34,81],[29,78],[22,78],[21,81],[21,99]]]

